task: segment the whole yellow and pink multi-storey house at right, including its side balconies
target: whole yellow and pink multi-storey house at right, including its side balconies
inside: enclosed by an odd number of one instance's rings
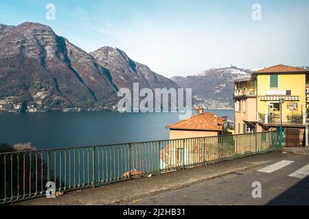
[[[249,79],[235,82],[236,133],[268,131],[281,123],[302,143],[306,125],[306,82],[308,70],[279,64],[253,72]],[[298,144],[298,143],[297,143]]]

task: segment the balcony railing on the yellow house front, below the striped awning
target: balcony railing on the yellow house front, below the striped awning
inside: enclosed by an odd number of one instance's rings
[[[264,124],[277,124],[281,123],[280,114],[258,114],[258,120]],[[282,114],[282,124],[291,125],[304,125],[304,116],[302,114]]]

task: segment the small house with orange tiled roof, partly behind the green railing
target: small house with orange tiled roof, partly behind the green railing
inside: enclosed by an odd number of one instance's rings
[[[203,110],[197,109],[195,116],[168,125],[166,128],[170,129],[170,140],[174,141],[171,141],[160,151],[161,166],[190,164],[192,159],[195,161],[202,160],[203,140],[192,141],[190,139],[222,135],[225,120],[226,118],[211,112],[203,112]],[[217,139],[214,138],[214,141],[217,141]]]

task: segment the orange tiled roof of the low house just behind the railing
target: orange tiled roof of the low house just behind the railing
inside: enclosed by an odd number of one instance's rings
[[[215,123],[215,116],[211,112],[197,114],[187,120],[181,120],[178,123],[166,126],[168,129],[185,129],[185,130],[214,130],[222,131],[224,118],[217,116],[217,123]]]

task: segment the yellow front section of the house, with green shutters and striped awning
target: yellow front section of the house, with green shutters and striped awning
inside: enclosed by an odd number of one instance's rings
[[[304,68],[284,65],[253,72],[258,81],[258,121],[267,127],[281,119],[284,125],[305,125],[307,73]]]

